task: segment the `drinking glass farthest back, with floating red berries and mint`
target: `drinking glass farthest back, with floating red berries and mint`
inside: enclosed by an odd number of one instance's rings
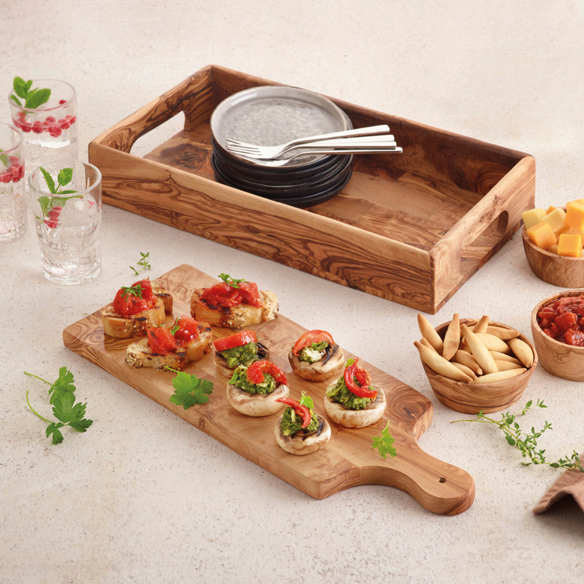
[[[8,96],[12,121],[22,130],[27,169],[45,162],[77,159],[77,95],[58,79],[35,79],[30,91],[50,90],[46,103],[27,107],[26,99],[13,89]],[[46,92],[45,92],[46,93]]]

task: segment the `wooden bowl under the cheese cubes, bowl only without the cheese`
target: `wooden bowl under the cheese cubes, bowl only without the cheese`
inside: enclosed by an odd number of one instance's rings
[[[536,274],[539,279],[562,288],[584,286],[584,258],[566,258],[538,248],[527,237],[525,225],[523,225],[521,234],[527,262],[531,272]]]

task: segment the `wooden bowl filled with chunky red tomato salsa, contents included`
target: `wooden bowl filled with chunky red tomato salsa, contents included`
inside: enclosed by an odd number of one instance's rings
[[[584,290],[564,290],[531,312],[533,343],[544,369],[584,381]]]

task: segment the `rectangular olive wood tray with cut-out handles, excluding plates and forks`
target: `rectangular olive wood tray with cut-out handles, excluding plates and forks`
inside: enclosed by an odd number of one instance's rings
[[[222,185],[209,119],[235,92],[281,85],[209,65],[89,144],[103,200],[425,312],[436,312],[534,206],[527,154],[332,99],[354,127],[387,123],[404,153],[358,155],[330,201],[296,208]],[[185,127],[144,158],[135,140],[177,113]]]

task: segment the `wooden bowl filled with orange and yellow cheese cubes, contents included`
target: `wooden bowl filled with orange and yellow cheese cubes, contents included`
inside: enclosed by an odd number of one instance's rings
[[[522,213],[523,249],[538,278],[563,288],[584,287],[584,199]]]

